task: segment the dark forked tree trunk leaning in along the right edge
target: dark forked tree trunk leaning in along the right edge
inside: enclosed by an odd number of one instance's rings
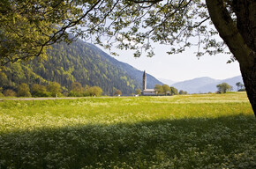
[[[235,21],[223,0],[206,0],[210,17],[222,40],[240,64],[248,99],[256,116],[256,1],[233,0]]]

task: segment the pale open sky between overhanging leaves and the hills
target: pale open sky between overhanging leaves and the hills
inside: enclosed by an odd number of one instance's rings
[[[138,70],[146,70],[156,78],[184,81],[196,77],[224,79],[240,75],[238,62],[226,63],[230,55],[204,55],[200,60],[193,54],[196,48],[189,48],[182,54],[168,55],[169,47],[155,45],[153,57],[134,58],[132,51],[115,50],[118,61],[126,62]],[[106,53],[109,53],[105,50]]]

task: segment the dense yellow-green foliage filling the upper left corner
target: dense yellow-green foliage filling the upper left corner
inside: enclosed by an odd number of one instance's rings
[[[75,26],[81,14],[79,1],[3,0],[0,3],[0,63],[46,58],[46,49],[68,41],[66,29]],[[92,1],[93,3],[93,1]]]

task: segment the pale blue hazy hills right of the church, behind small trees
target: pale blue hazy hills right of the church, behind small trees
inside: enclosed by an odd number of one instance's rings
[[[178,82],[176,84],[172,84],[172,86],[176,87],[178,90],[184,90],[189,93],[216,92],[216,85],[224,82],[232,85],[234,91],[237,91],[236,83],[243,83],[243,79],[241,76],[231,77],[223,80],[210,77],[199,77],[192,80],[186,80],[184,82]]]

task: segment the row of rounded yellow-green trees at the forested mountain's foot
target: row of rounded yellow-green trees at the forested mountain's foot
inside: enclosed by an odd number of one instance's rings
[[[19,84],[16,90],[0,88],[0,96],[5,97],[83,97],[83,96],[101,96],[102,88],[99,86],[83,87],[79,82],[72,83],[69,92],[65,92],[57,82],[50,82],[47,85],[33,84],[29,87],[28,84]]]

